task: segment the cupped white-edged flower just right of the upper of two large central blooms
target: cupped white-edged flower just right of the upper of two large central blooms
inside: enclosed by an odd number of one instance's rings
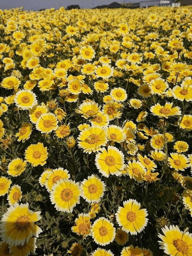
[[[108,132],[108,139],[112,140],[114,142],[122,142],[126,139],[126,133],[124,130],[114,124],[111,124],[107,127],[107,132]]]

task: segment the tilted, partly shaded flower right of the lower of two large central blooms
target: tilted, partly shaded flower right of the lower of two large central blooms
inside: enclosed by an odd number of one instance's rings
[[[129,161],[126,171],[128,172],[131,179],[137,180],[139,183],[143,182],[143,177],[146,173],[146,169],[139,161]]]

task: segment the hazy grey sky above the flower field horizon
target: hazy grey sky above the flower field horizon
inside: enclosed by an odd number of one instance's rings
[[[93,8],[98,5],[117,3],[138,3],[140,0],[0,0],[0,9],[10,9],[23,6],[24,10],[38,11],[40,9],[59,9],[61,6],[78,4],[80,8]]]

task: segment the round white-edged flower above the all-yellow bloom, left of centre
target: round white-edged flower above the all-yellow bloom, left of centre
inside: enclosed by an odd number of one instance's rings
[[[36,129],[41,133],[50,133],[57,129],[57,124],[57,117],[53,113],[44,113],[38,118]]]

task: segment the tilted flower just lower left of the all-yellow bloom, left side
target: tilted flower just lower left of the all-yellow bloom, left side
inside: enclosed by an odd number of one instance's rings
[[[19,176],[26,169],[26,161],[23,161],[21,158],[15,158],[9,163],[7,167],[7,173],[13,177]]]

